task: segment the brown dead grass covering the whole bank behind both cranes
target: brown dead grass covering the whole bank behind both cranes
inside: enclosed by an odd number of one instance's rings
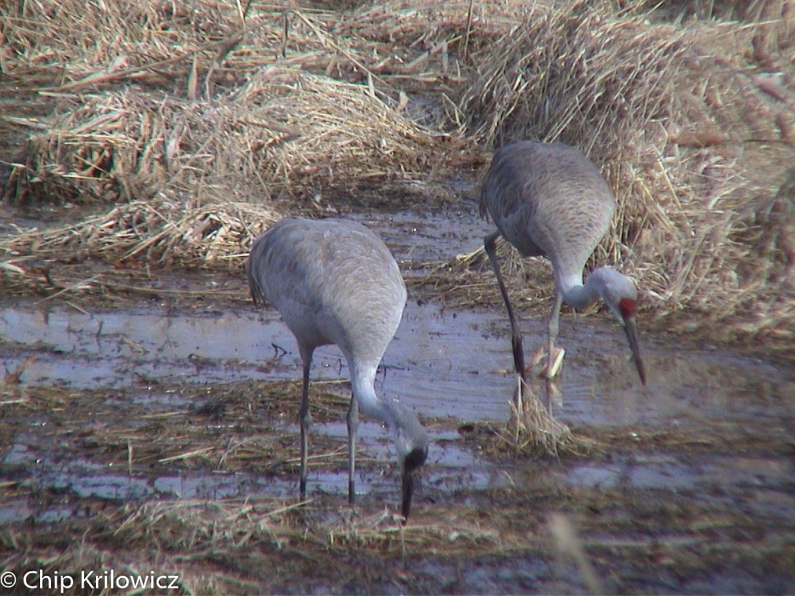
[[[383,204],[522,137],[603,168],[619,213],[593,263],[621,264],[659,323],[786,350],[793,2],[624,5],[6,3],[6,203],[104,212],[7,234],[4,285],[30,284],[31,256],[239,267],[285,211]],[[450,265],[431,283],[496,296],[479,261]],[[513,292],[549,295],[511,267]]]

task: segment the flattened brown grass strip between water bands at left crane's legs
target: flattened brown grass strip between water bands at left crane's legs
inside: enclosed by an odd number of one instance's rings
[[[11,373],[13,376],[13,373]],[[142,378],[142,382],[146,379]],[[317,389],[320,385],[322,389]],[[331,382],[314,383],[312,415],[316,420],[344,420],[349,389]],[[140,389],[138,390],[140,392]],[[152,473],[176,466],[208,466],[219,472],[256,470],[258,474],[297,470],[297,434],[285,423],[297,420],[301,385],[293,381],[259,385],[244,381],[212,389],[184,391],[154,385],[150,401],[135,401],[135,389],[66,391],[14,385],[6,379],[0,387],[0,408],[10,425],[44,416],[66,435],[62,455],[83,456],[91,447],[126,470]],[[172,405],[180,397],[184,403]],[[88,424],[85,412],[117,424]],[[10,432],[10,427],[9,427]],[[72,441],[68,435],[79,436]],[[13,443],[13,436],[0,437]],[[340,466],[347,462],[347,445],[325,435],[312,437],[312,465]],[[361,454],[364,462],[370,457]]]

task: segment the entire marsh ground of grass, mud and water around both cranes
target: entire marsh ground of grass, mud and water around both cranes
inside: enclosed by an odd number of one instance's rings
[[[795,591],[793,0],[89,4],[0,3],[2,590]],[[564,312],[556,455],[506,427],[476,252],[515,138],[599,165],[588,266],[643,303],[645,388],[607,315]],[[409,284],[377,386],[433,439],[405,526],[373,421],[347,505],[333,349],[297,502],[299,358],[242,275],[295,213],[374,227]],[[549,265],[501,250],[531,353]]]

